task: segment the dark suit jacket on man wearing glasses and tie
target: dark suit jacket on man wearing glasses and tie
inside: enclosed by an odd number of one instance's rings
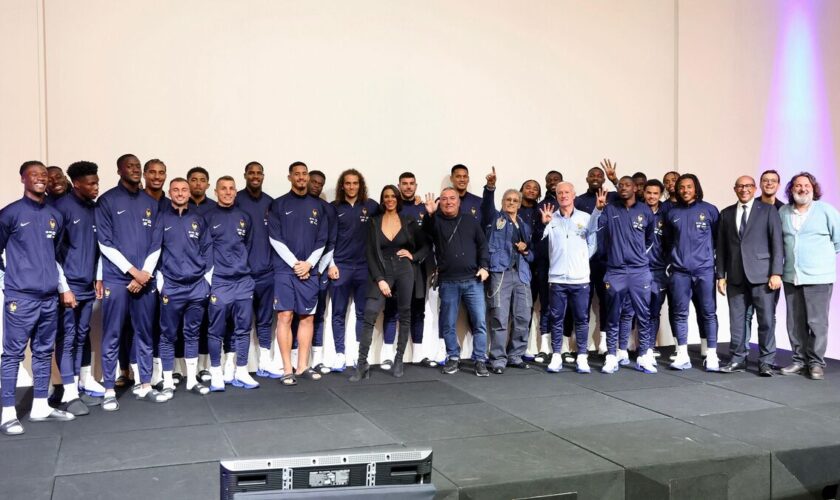
[[[741,203],[720,213],[715,268],[718,279],[732,285],[766,283],[771,275],[781,275],[784,267],[782,220],[776,207],[754,201],[744,230],[738,237],[735,218]]]

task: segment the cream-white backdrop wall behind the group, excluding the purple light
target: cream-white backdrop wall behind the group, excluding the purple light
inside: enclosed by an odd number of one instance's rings
[[[756,117],[789,3],[6,0],[0,203],[20,196],[26,159],[95,161],[104,190],[133,152],[170,178],[195,165],[238,178],[258,160],[273,195],[303,160],[330,199],[349,167],[376,197],[404,170],[437,191],[465,163],[480,194],[491,165],[500,186],[557,169],[582,190],[610,157],[621,173],[697,172],[722,207],[738,173],[762,169]],[[840,46],[838,5],[798,3],[821,9],[824,52]],[[837,63],[820,63],[837,88]]]

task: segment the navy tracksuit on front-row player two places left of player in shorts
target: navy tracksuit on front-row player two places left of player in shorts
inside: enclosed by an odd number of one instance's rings
[[[172,371],[182,324],[184,357],[198,357],[198,332],[210,294],[205,274],[213,262],[213,242],[207,222],[194,210],[179,212],[170,204],[160,214],[160,225],[160,358],[163,371]]]

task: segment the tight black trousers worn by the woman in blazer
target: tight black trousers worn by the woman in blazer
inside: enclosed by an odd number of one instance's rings
[[[383,257],[385,264],[385,282],[391,287],[391,296],[397,301],[399,314],[399,333],[397,335],[397,353],[394,361],[401,361],[408,337],[411,335],[411,298],[414,291],[414,268],[409,259],[401,259],[396,255]],[[365,324],[362,328],[362,338],[359,341],[359,364],[367,363],[370,344],[373,342],[373,325],[376,318],[385,308],[385,296],[379,290],[378,283],[371,283],[368,298],[365,302]]]

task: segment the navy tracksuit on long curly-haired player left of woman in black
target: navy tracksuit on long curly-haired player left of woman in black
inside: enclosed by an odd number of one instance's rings
[[[365,320],[365,300],[368,287],[367,242],[368,220],[379,211],[379,204],[371,199],[333,202],[338,233],[335,239],[333,265],[339,278],[332,284],[332,332],[335,350],[344,352],[345,323],[350,298],[356,309],[356,341],[360,339]]]

